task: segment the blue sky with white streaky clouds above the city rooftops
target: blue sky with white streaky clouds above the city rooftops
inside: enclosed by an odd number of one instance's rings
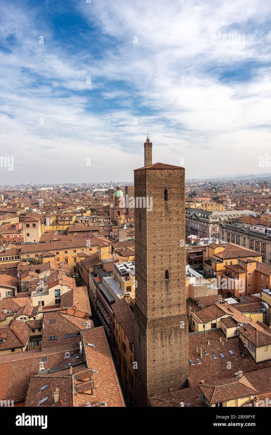
[[[0,184],[132,181],[147,131],[153,162],[187,178],[271,171],[270,13],[270,0],[1,0],[14,169]]]

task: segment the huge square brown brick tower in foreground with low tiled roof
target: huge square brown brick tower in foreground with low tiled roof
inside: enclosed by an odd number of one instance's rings
[[[156,163],[134,176],[135,197],[152,197],[152,211],[135,208],[135,403],[147,406],[187,385],[185,170]]]

